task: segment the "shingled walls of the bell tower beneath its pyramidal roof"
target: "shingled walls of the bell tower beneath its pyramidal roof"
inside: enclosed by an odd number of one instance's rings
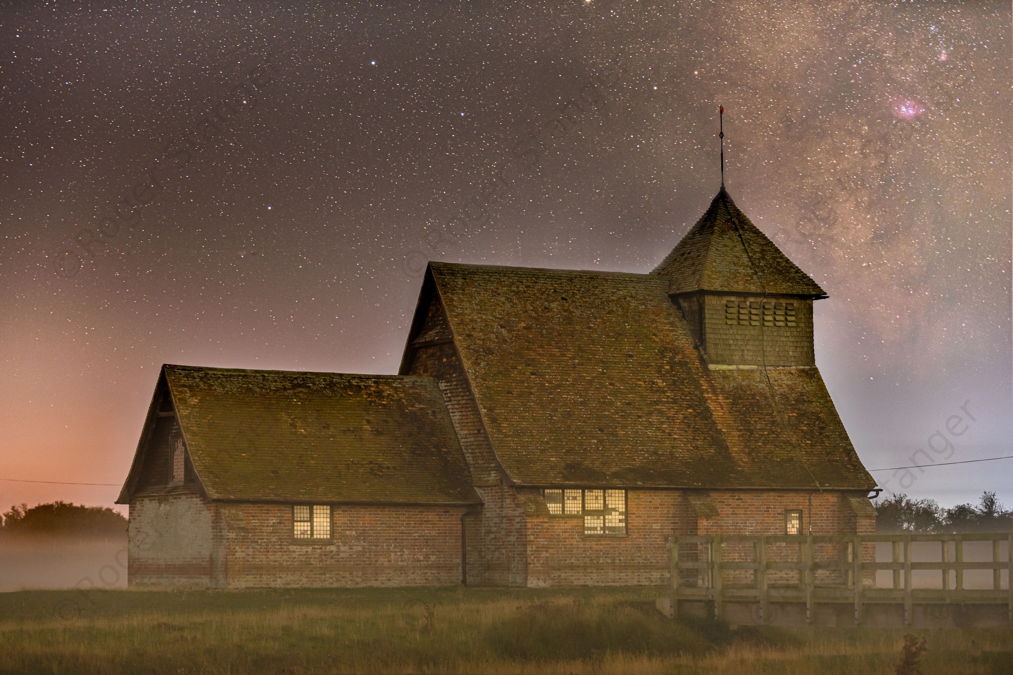
[[[796,325],[742,326],[737,321],[728,324],[725,319],[728,301],[768,305],[793,303]],[[679,305],[710,363],[762,365],[766,352],[767,365],[815,365],[811,300],[768,297],[764,301],[754,296],[701,293],[681,297]]]

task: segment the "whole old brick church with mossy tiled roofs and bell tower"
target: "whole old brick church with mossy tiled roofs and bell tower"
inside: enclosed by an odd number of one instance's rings
[[[674,534],[871,534],[827,298],[724,188],[649,274],[431,262],[396,375],[164,365],[129,583],[668,583]]]

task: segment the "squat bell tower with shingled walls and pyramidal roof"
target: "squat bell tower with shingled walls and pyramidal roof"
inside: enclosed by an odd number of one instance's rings
[[[711,368],[815,365],[812,301],[827,293],[738,210],[721,186],[652,271],[671,276]]]

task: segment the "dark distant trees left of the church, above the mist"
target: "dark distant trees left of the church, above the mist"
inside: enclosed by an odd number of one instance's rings
[[[67,502],[38,504],[30,509],[27,504],[11,506],[3,514],[2,523],[0,533],[9,535],[104,537],[123,536],[127,531],[127,518],[110,508]]]

